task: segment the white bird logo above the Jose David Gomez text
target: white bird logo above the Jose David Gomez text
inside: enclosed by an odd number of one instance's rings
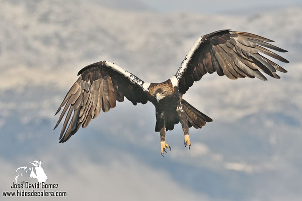
[[[46,182],[48,179],[44,169],[41,167],[42,161],[35,160],[30,162],[32,166],[22,166],[16,169],[15,173],[15,181],[16,183],[24,183],[24,182]]]

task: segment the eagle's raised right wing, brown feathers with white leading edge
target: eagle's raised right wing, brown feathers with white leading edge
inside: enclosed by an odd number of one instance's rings
[[[231,30],[204,35],[194,43],[171,81],[174,86],[179,86],[181,93],[185,93],[194,81],[215,71],[218,75],[226,75],[230,79],[257,77],[267,81],[260,71],[279,79],[276,70],[287,71],[259,52],[288,63],[286,59],[266,48],[278,52],[287,51],[267,42],[273,41],[255,34]]]

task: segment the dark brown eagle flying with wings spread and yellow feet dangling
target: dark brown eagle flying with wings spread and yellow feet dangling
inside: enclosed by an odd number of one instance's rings
[[[288,63],[269,49],[287,51],[270,42],[274,41],[229,29],[201,36],[185,56],[176,74],[161,83],[145,82],[109,61],[88,65],[79,71],[78,80],[71,86],[55,113],[64,106],[54,129],[68,110],[59,142],[66,142],[81,126],[87,127],[92,119],[98,117],[101,110],[108,112],[116,106],[116,101],[123,102],[126,97],[133,105],[149,101],[155,106],[155,131],[160,132],[162,156],[167,148],[171,151],[166,143],[166,132],[173,130],[179,122],[184,132],[184,146],[188,145],[190,149],[189,128],[199,129],[213,120],[186,102],[183,94],[203,75],[213,72],[230,79],[257,77],[267,81],[263,72],[279,79],[276,71],[287,71],[265,55]]]

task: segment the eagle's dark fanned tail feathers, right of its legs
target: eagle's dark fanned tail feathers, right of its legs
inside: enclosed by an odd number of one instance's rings
[[[187,115],[189,127],[194,127],[196,129],[205,126],[206,122],[212,122],[213,120],[198,111],[196,108],[191,106],[186,100],[181,99],[182,107]]]

